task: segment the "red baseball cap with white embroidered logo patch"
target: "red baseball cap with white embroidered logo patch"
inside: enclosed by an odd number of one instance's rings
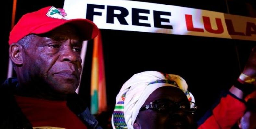
[[[49,6],[23,15],[10,33],[9,44],[17,43],[29,34],[49,32],[66,23],[71,23],[80,30],[82,40],[90,40],[98,35],[98,27],[92,21],[88,19],[67,19],[63,15],[63,10]]]

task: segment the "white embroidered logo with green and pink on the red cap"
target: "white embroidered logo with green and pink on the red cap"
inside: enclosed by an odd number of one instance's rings
[[[59,10],[55,7],[51,7],[49,9],[49,11],[47,12],[46,14],[48,17],[51,17],[51,18],[57,18],[57,19],[65,19],[65,20],[68,20],[68,18],[65,18],[66,16],[66,13],[65,13],[65,10],[62,9],[62,10]]]

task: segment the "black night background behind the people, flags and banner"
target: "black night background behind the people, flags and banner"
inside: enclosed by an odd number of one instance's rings
[[[211,10],[227,13],[224,0],[141,0],[168,5]],[[231,14],[249,16],[245,1],[227,2]],[[64,0],[17,0],[17,20],[25,13],[42,7],[62,8]],[[254,5],[255,6],[255,5]],[[8,36],[11,28],[12,1],[2,6],[1,82],[6,79],[8,68]],[[210,108],[221,90],[227,90],[240,74],[255,41],[209,38],[199,36],[116,31],[101,29],[105,59],[107,102],[110,109],[122,84],[133,74],[156,70],[182,76],[189,85],[199,106],[199,118]],[[93,44],[87,46],[80,95],[90,105],[90,74]]]

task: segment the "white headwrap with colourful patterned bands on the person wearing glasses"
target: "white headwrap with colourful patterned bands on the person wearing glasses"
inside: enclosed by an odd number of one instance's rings
[[[141,72],[126,81],[116,96],[116,106],[112,115],[113,128],[133,129],[141,106],[153,91],[163,86],[177,87],[187,95],[189,101],[195,102],[182,77],[157,71]]]

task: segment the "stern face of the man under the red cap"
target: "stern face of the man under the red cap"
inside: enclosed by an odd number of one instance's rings
[[[55,92],[73,93],[82,70],[82,42],[76,30],[71,25],[63,25],[34,35],[30,41],[24,54],[23,72],[26,74],[23,75],[37,80],[38,85],[50,86],[47,88]]]

